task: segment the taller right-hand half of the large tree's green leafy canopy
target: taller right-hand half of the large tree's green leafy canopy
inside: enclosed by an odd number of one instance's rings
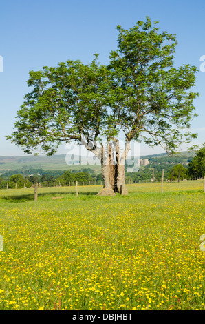
[[[127,139],[175,153],[180,143],[196,136],[183,136],[181,130],[195,116],[193,99],[198,94],[190,89],[197,68],[173,67],[176,35],[159,33],[156,25],[147,17],[130,30],[117,27],[118,50],[111,52],[109,65],[116,81],[112,107]]]

